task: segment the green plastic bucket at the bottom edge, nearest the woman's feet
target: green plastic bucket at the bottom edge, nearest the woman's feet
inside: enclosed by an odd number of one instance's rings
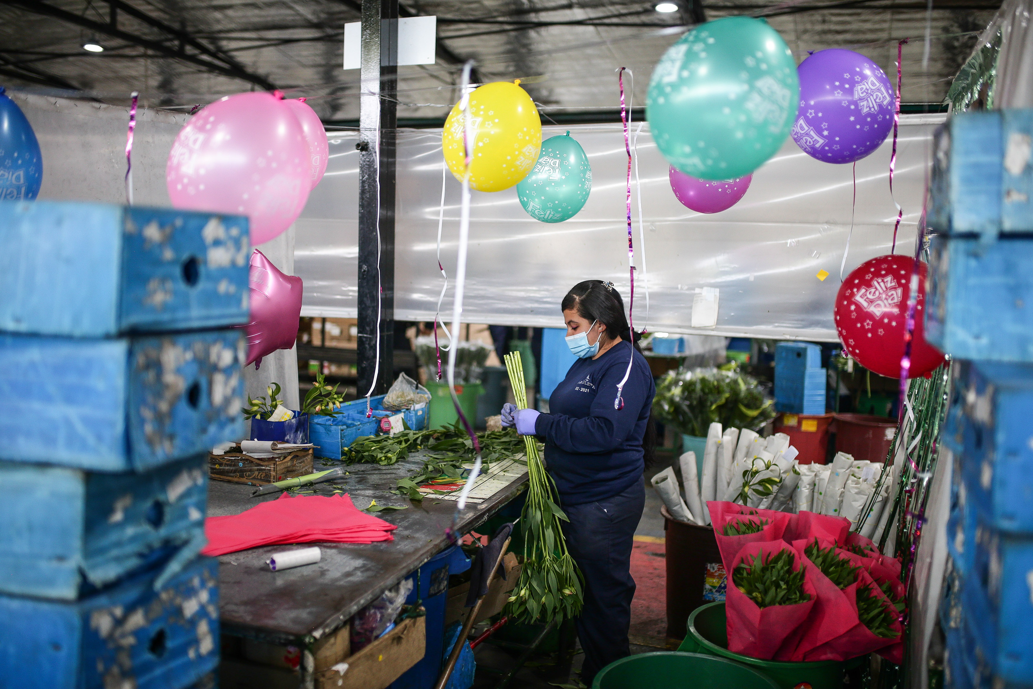
[[[592,689],[779,689],[752,667],[727,658],[659,651],[628,656],[595,676]]]

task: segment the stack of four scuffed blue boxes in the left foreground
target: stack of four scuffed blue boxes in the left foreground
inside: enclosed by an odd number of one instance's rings
[[[243,435],[247,219],[0,203],[4,687],[218,664],[207,449]]]

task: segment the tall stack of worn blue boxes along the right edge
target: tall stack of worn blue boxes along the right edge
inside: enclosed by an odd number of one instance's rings
[[[959,688],[1033,686],[1031,136],[1033,109],[954,115],[936,134],[926,337],[954,359],[941,443],[957,619],[941,624]]]

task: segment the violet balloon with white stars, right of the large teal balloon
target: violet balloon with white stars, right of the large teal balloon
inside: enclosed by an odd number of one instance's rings
[[[800,109],[792,140],[822,162],[860,160],[886,140],[894,124],[894,87],[879,66],[841,48],[800,63]]]

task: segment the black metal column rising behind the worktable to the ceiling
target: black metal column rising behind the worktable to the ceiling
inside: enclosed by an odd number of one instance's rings
[[[398,0],[363,0],[358,163],[358,395],[395,377]],[[377,267],[379,264],[379,272]],[[379,347],[377,324],[379,323]],[[374,385],[374,372],[376,383]]]

